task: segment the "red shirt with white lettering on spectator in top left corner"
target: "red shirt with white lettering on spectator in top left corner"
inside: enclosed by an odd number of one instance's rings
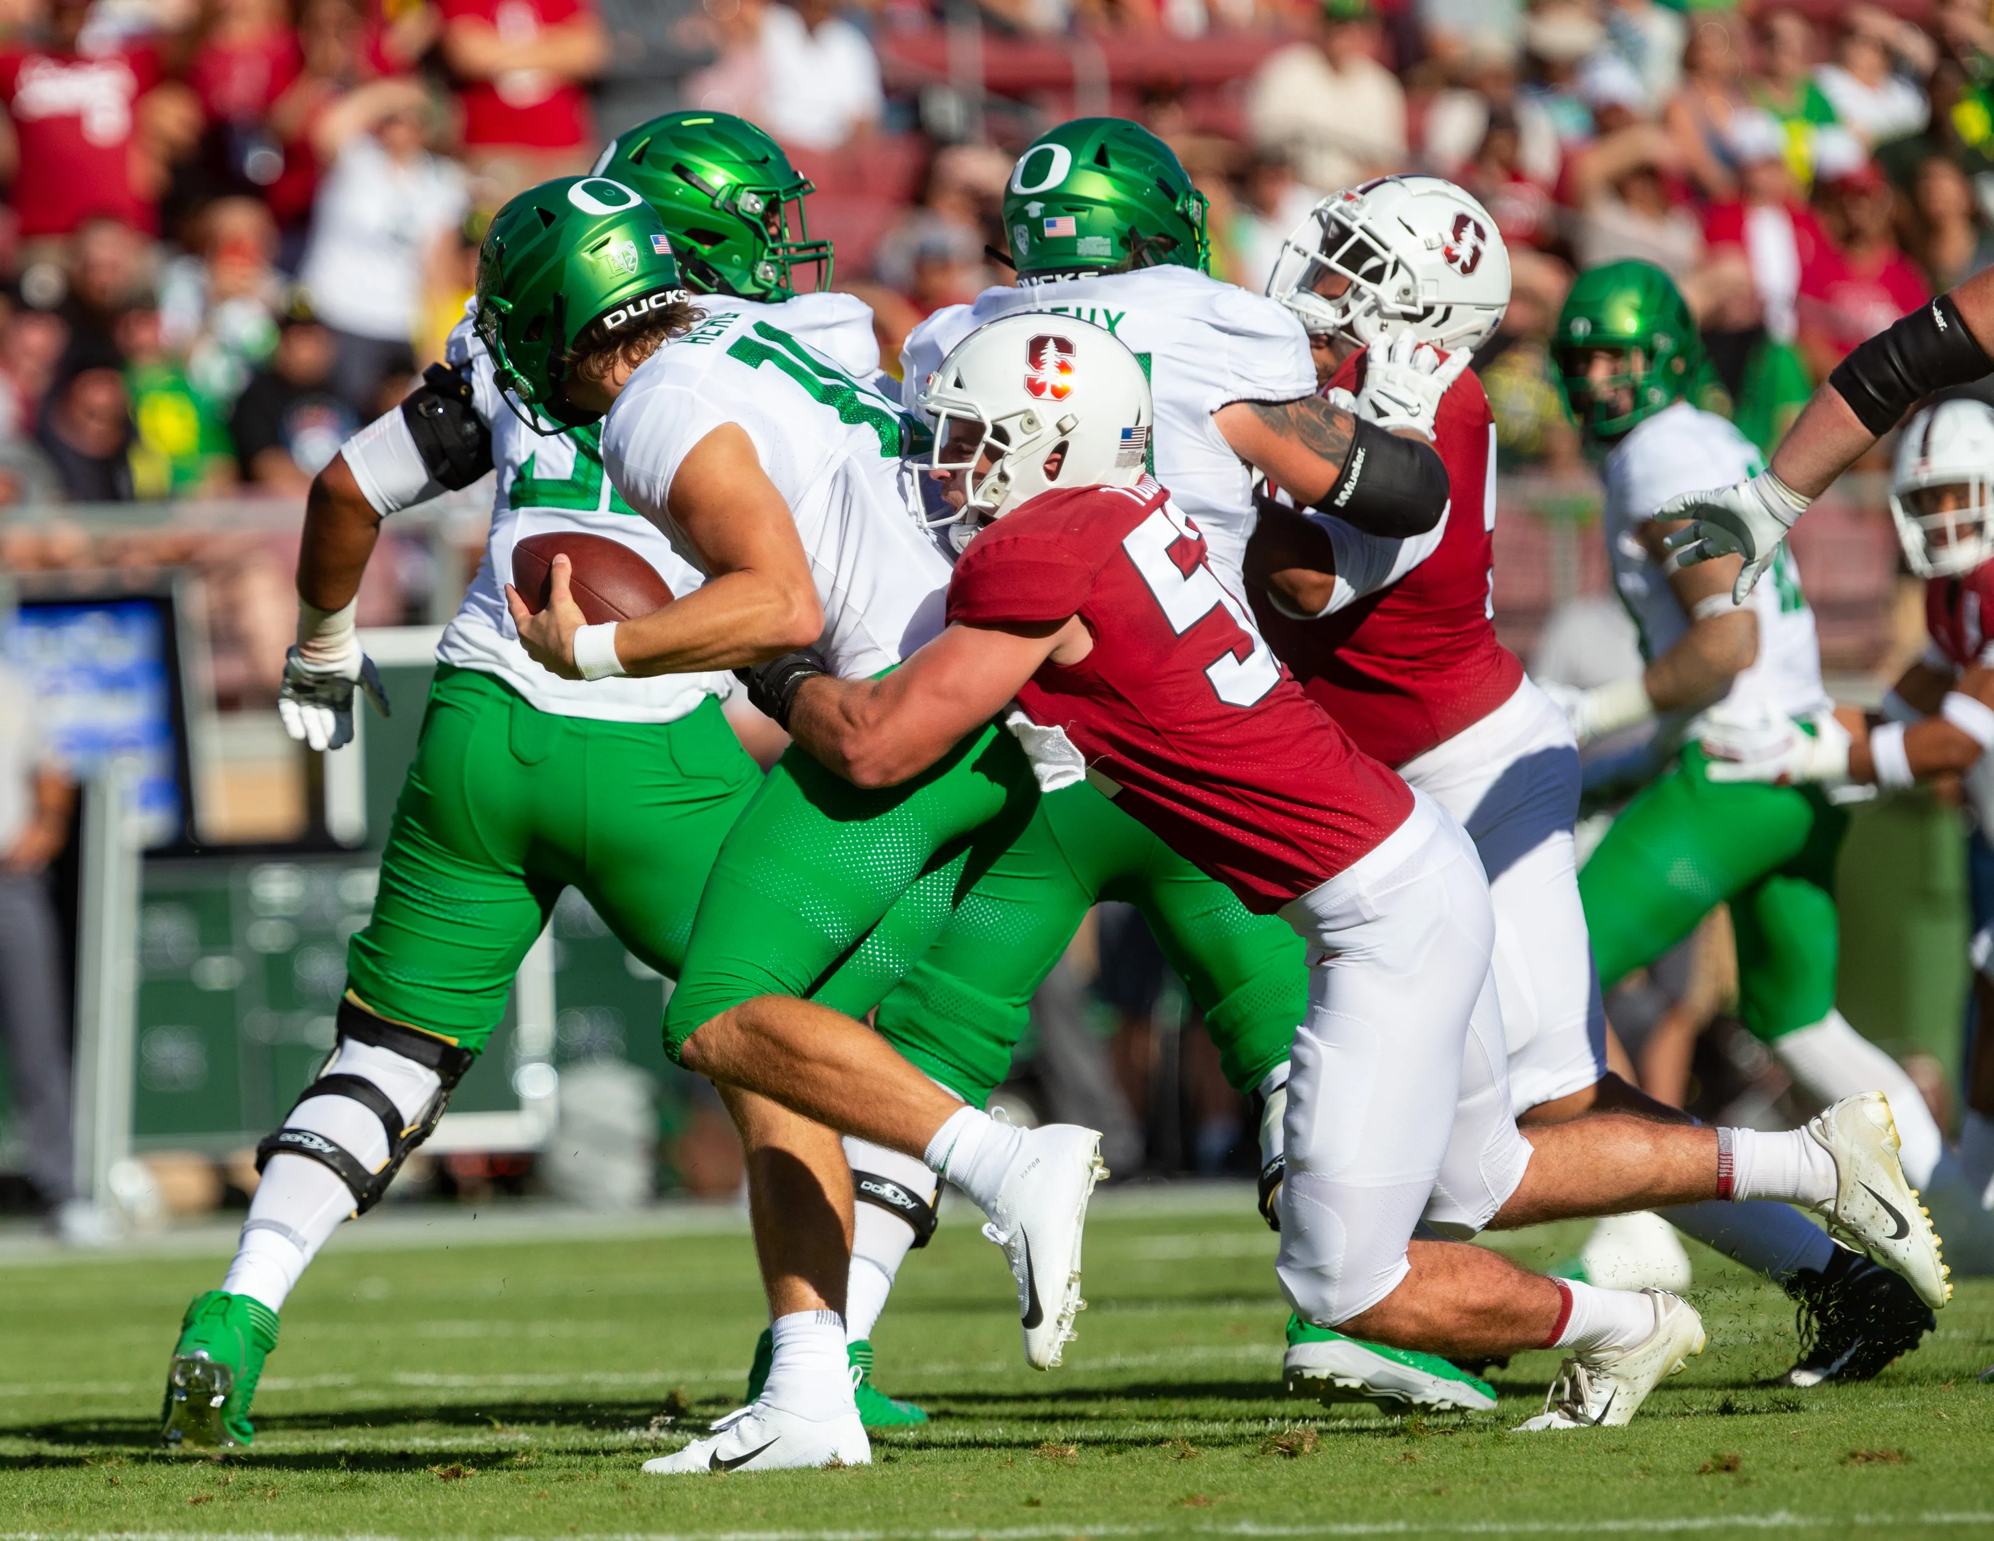
[[[24,237],[68,235],[98,215],[158,227],[156,209],[132,187],[134,116],[158,84],[160,56],[144,44],[0,52],[0,104],[20,142],[14,207]]]

